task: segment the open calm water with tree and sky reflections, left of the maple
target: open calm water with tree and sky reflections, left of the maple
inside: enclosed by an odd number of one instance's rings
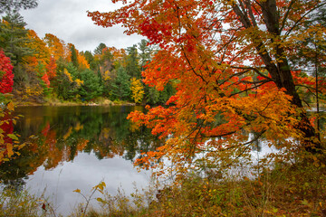
[[[24,107],[14,126],[29,145],[21,156],[0,165],[3,187],[23,187],[45,195],[56,211],[67,214],[102,180],[109,193],[122,187],[127,194],[149,184],[149,171],[137,172],[132,163],[141,151],[161,145],[149,129],[129,123],[130,111],[142,107]],[[33,136],[33,137],[31,137]]]

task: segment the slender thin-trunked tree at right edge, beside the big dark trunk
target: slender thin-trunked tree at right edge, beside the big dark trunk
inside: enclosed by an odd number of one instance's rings
[[[302,71],[301,76],[313,76],[314,87],[303,86],[300,87],[302,95],[304,95],[304,102],[316,103],[317,109],[317,132],[321,129],[320,124],[320,103],[321,99],[325,99],[322,94],[323,84],[326,81],[326,68],[324,62],[326,61],[326,41],[324,40],[324,31],[319,27],[322,25],[326,27],[326,7],[321,7],[317,13],[312,14],[312,18],[306,21],[303,27],[306,30],[306,37],[298,41],[293,48],[297,50],[295,55],[289,59],[292,65],[298,70]],[[308,93],[307,93],[308,89]]]

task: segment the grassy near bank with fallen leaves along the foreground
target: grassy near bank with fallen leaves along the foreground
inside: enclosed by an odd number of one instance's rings
[[[280,165],[265,170],[256,179],[222,176],[190,175],[182,184],[140,190],[131,195],[121,189],[110,195],[105,184],[99,184],[93,190],[101,192],[102,197],[86,197],[85,203],[76,206],[69,216],[326,216],[324,167]],[[0,214],[61,216],[43,198],[28,193],[20,198],[16,198],[17,194],[6,196],[16,203],[3,205]],[[97,200],[101,209],[87,206],[91,200]]]

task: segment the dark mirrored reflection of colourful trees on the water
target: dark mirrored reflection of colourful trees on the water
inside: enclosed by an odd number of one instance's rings
[[[98,159],[121,156],[133,161],[140,152],[154,150],[162,142],[146,127],[135,127],[127,116],[142,107],[26,107],[14,131],[28,141],[20,156],[0,165],[5,186],[21,186],[41,165],[51,170],[70,162],[79,153],[94,153]],[[33,136],[33,137],[31,137]]]

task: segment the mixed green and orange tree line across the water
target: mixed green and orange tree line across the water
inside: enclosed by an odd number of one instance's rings
[[[89,102],[102,98],[163,104],[175,92],[173,81],[162,91],[142,81],[141,72],[157,52],[148,41],[142,40],[126,49],[100,43],[92,52],[80,52],[74,44],[52,33],[40,38],[33,30],[26,29],[19,9],[37,6],[36,1],[27,2],[1,5],[4,15],[0,47],[13,66],[12,73],[1,74],[2,86],[9,82],[7,86],[12,87],[1,90],[2,93],[13,90],[16,101],[38,103],[52,99]]]

